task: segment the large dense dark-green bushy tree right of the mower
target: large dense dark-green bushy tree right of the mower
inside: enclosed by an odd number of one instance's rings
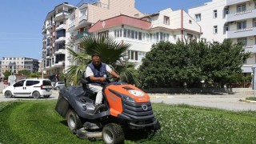
[[[249,55],[230,40],[158,42],[142,59],[139,78],[146,88],[183,86],[184,82],[199,86],[202,80],[224,84],[230,81],[230,74],[241,73],[242,62]]]

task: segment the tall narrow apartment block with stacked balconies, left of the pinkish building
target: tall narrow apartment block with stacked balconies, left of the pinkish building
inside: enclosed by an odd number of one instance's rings
[[[76,9],[64,2],[46,15],[42,27],[42,69],[46,75],[62,73],[66,52],[66,16]]]

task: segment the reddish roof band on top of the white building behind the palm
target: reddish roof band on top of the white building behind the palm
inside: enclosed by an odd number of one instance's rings
[[[110,27],[120,25],[134,26],[139,29],[150,30],[151,22],[146,22],[141,19],[133,18],[126,15],[118,15],[116,17],[108,18],[102,21],[99,20],[94,24],[94,26],[90,27],[89,32],[91,33],[98,30],[108,29]]]

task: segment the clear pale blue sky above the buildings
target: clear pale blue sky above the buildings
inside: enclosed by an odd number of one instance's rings
[[[159,10],[187,10],[211,0],[135,0],[142,13]],[[80,0],[1,0],[0,59],[2,57],[28,57],[41,59],[42,24],[46,14],[62,2],[76,5]]]

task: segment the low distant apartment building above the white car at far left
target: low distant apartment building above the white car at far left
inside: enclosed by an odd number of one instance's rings
[[[13,74],[18,74],[19,70],[30,70],[31,73],[38,71],[38,60],[26,57],[3,57],[1,60],[2,74],[10,70]]]

